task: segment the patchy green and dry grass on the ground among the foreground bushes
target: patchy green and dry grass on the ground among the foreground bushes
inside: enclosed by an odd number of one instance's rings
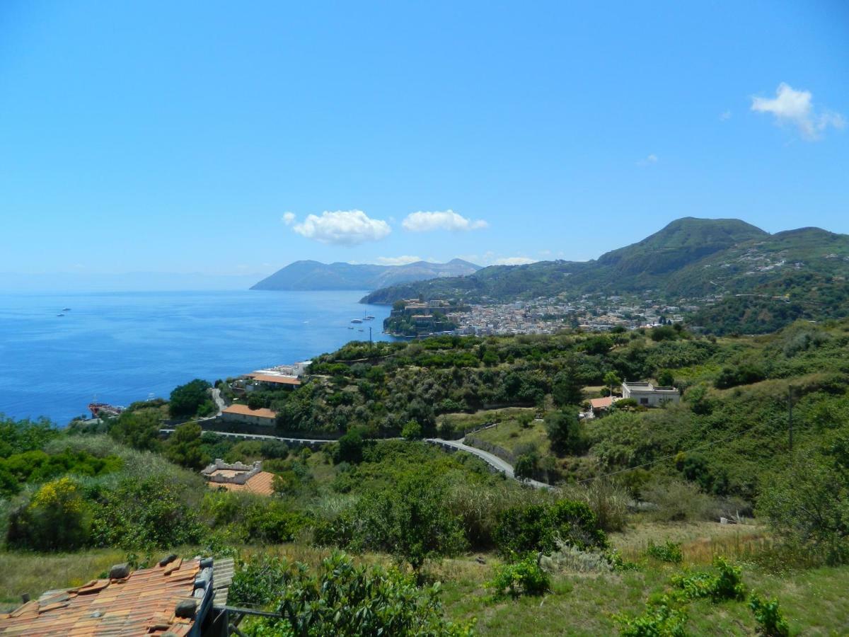
[[[649,539],[680,542],[683,565],[647,558]],[[492,554],[466,555],[428,567],[430,578],[443,583],[442,600],[447,617],[464,621],[476,617],[475,632],[482,635],[600,635],[616,634],[616,615],[636,616],[645,602],[669,589],[675,573],[699,569],[713,555],[726,555],[743,567],[747,589],[780,600],[791,634],[849,634],[849,567],[820,567],[797,572],[773,573],[747,561],[765,541],[756,526],[722,526],[710,522],[660,524],[637,521],[623,533],[612,533],[611,544],[628,560],[638,561],[630,572],[557,572],[552,589],[542,597],[490,600],[486,583],[500,564]],[[196,547],[179,552],[194,555]],[[317,564],[329,550],[304,544],[245,547],[242,558],[257,553],[282,555],[291,561]],[[72,554],[38,555],[0,553],[0,601],[14,606],[20,594],[38,595],[47,589],[78,585],[127,555],[117,550],[86,550]],[[358,560],[388,563],[385,555],[362,555]],[[481,563],[481,560],[484,563]],[[689,605],[688,634],[755,634],[751,611],[743,602],[718,604],[696,600]]]

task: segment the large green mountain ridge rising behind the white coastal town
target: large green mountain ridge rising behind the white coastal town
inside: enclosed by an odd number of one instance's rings
[[[849,313],[843,302],[849,298],[846,278],[849,235],[820,228],[769,234],[739,219],[685,217],[595,261],[492,266],[467,276],[375,290],[363,302],[391,303],[417,296],[511,302],[559,294],[649,291],[655,298],[677,301],[682,297],[751,294],[798,302],[801,309],[790,313],[796,318],[822,318]],[[746,310],[743,302],[736,302],[735,307],[746,325],[757,324],[743,314],[762,308]],[[768,314],[763,315],[764,325],[771,320]],[[710,318],[707,314],[705,317]]]

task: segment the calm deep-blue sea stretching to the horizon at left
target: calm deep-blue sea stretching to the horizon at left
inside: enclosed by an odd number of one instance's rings
[[[122,405],[167,397],[193,378],[215,381],[368,340],[369,324],[375,341],[391,340],[380,332],[390,308],[357,303],[364,294],[0,295],[0,413],[64,426],[93,397]],[[349,330],[363,310],[374,321]]]

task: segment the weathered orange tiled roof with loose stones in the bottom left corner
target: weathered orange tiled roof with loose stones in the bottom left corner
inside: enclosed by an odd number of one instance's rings
[[[171,562],[131,572],[125,579],[93,579],[76,589],[51,591],[8,614],[0,635],[11,637],[96,637],[100,635],[188,634],[194,619],[175,617],[178,601],[194,599],[200,561]]]

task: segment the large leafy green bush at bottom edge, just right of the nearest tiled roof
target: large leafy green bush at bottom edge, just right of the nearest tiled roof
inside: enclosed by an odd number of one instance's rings
[[[304,635],[471,635],[470,624],[448,622],[439,584],[419,589],[396,569],[357,566],[334,553],[316,569],[265,560],[245,565],[233,577],[233,603],[274,602],[281,617],[263,618],[251,637]]]

